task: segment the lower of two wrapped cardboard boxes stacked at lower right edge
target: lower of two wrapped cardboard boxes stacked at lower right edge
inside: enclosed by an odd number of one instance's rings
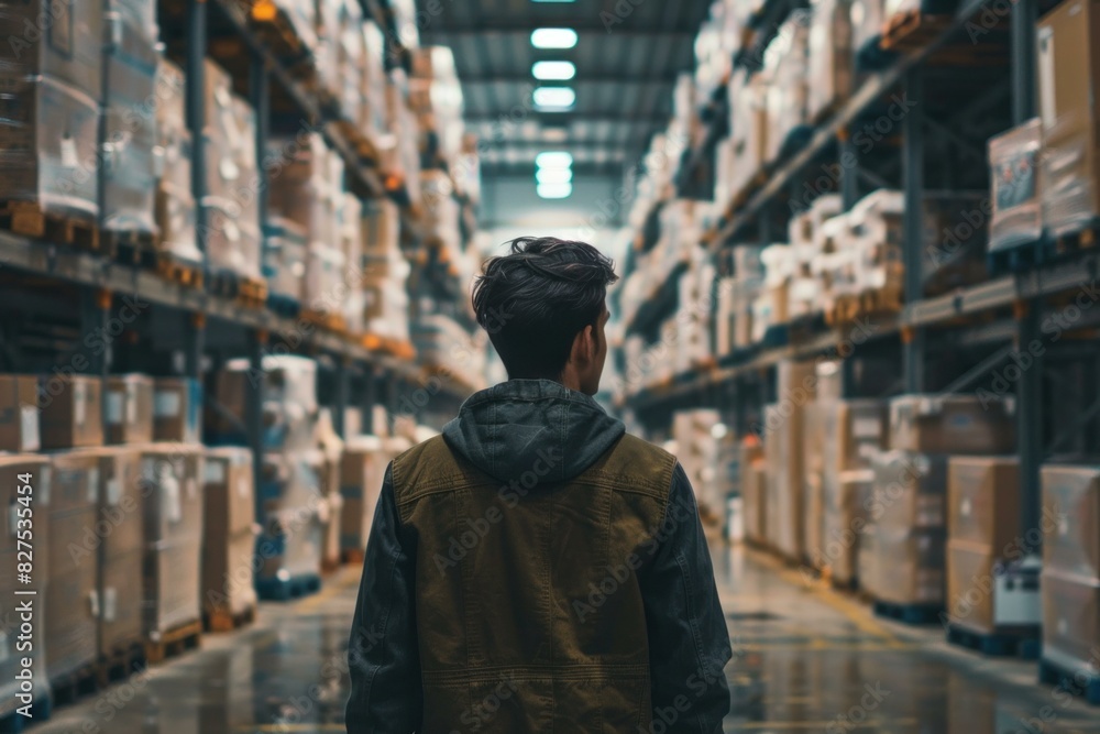
[[[1100,649],[1100,580],[1044,567],[1043,657],[1068,670],[1096,675]]]

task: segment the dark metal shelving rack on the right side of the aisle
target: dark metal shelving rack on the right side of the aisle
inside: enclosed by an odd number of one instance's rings
[[[766,6],[793,8],[789,0],[769,0]],[[1053,3],[1049,3],[1053,4]],[[1038,17],[1038,0],[1021,0],[1013,3],[1008,19],[1008,55],[1011,69],[1007,91],[1010,96],[1011,116],[1003,120],[1002,129],[1019,124],[1035,114],[1035,35]],[[774,167],[767,180],[738,206],[732,202],[724,216],[707,232],[703,244],[712,255],[723,248],[738,242],[769,243],[776,231],[776,209],[782,197],[805,180],[807,172],[822,158],[854,154],[851,125],[857,122],[878,100],[899,88],[911,98],[924,100],[934,91],[927,79],[931,59],[937,51],[945,48],[953,40],[965,33],[967,23],[974,21],[982,10],[978,0],[963,0],[952,21],[934,35],[928,43],[916,51],[898,56],[884,68],[866,76],[839,109],[823,124],[817,127],[809,142],[787,161]],[[785,13],[781,13],[785,17]],[[780,18],[776,25],[782,21]],[[986,29],[987,31],[990,29]],[[741,63],[740,58],[736,63]],[[994,90],[996,91],[996,90]],[[912,281],[905,284],[909,297],[904,308],[893,317],[878,319],[876,331],[867,340],[866,349],[878,350],[889,355],[898,365],[900,377],[894,392],[933,392],[937,387],[956,391],[972,387],[977,380],[990,370],[1004,363],[1012,352],[1023,352],[1034,340],[1042,341],[1043,326],[1059,311],[1058,298],[1065,300],[1067,294],[1094,283],[1100,274],[1100,254],[1096,250],[1085,250],[1072,259],[1033,267],[1012,275],[1002,275],[970,287],[957,289],[935,298],[921,298],[920,267],[924,234],[920,218],[921,197],[928,186],[926,174],[931,167],[927,147],[932,142],[925,130],[931,121],[924,119],[923,110],[916,109],[902,121],[901,144],[898,151],[900,188],[905,196],[906,215],[903,223],[903,256],[906,273]],[[935,129],[935,128],[933,128]],[[706,140],[710,141],[707,135]],[[698,165],[700,151],[690,151],[684,161],[693,167]],[[950,165],[948,163],[948,165]],[[858,198],[857,184],[865,175],[860,166],[845,167],[838,182],[838,193],[845,208],[850,208]],[[872,178],[873,180],[873,178]],[[882,186],[877,177],[876,187]],[[683,191],[682,194],[686,194]],[[915,277],[913,277],[915,275]],[[673,286],[669,286],[673,287]],[[674,291],[674,288],[673,288]],[[1055,303],[1052,303],[1054,300]],[[635,318],[627,325],[627,332],[651,332],[652,324],[659,324],[669,316],[675,298],[662,299],[664,308],[648,309],[645,319]],[[660,304],[658,304],[659,306]],[[639,311],[639,316],[642,313]],[[1075,329],[1100,327],[1100,309],[1082,310],[1074,324]],[[1088,331],[1085,331],[1088,333]],[[782,360],[836,357],[838,344],[845,335],[835,330],[813,333],[798,342],[781,348],[754,349],[747,353],[719,355],[717,364],[706,369],[679,374],[663,384],[649,385],[620,399],[618,407],[632,410],[642,425],[661,431],[670,424],[671,413],[681,408],[713,406],[727,416],[727,420],[738,434],[750,430],[756,412],[757,420],[762,417],[763,404],[776,398],[774,370]],[[1081,375],[1094,375],[1100,365],[1100,339],[1088,339],[1085,348],[1074,352],[1084,360]],[[993,348],[998,351],[992,351]],[[979,350],[983,355],[972,360],[963,374],[945,385],[930,384],[926,371],[930,355],[936,350]],[[857,349],[865,349],[859,347]],[[981,351],[985,350],[985,351]],[[849,360],[844,360],[846,368]],[[1092,370],[1090,372],[1090,370]],[[1021,529],[1026,532],[1037,526],[1040,507],[1040,467],[1046,460],[1052,447],[1059,445],[1063,436],[1052,437],[1049,417],[1044,407],[1048,403],[1047,393],[1054,387],[1044,384],[1044,359],[1035,358],[1031,369],[1022,369],[1015,382],[1018,415],[1018,448],[1023,495]],[[846,369],[846,373],[848,370]],[[1087,376],[1082,376],[1085,382]],[[859,392],[846,374],[846,394]],[[1090,387],[1078,385],[1076,393],[1090,395]],[[1093,391],[1096,392],[1096,391]],[[1096,397],[1093,395],[1093,397]],[[1085,429],[1086,436],[1100,434],[1096,417],[1100,414],[1100,402],[1085,407],[1077,415],[1077,425],[1071,430]],[[1089,423],[1093,421],[1089,428]],[[756,424],[759,425],[759,424]],[[1088,431],[1092,432],[1089,434]],[[1086,439],[1088,440],[1088,439]]]

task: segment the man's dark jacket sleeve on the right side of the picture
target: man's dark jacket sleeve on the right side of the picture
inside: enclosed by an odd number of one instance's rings
[[[733,657],[695,496],[676,463],[664,522],[639,569],[649,637],[653,721],[676,734],[721,734]],[[669,721],[673,719],[673,721]]]

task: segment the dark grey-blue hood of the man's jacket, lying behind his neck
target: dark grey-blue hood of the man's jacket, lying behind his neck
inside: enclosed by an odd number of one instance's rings
[[[504,483],[560,482],[591,467],[626,432],[594,399],[550,380],[509,380],[466,398],[443,439]],[[525,476],[526,474],[526,476]]]

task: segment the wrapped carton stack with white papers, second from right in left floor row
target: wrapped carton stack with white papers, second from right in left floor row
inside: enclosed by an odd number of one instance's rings
[[[202,456],[198,445],[141,450],[145,507],[144,617],[154,642],[201,620]]]

